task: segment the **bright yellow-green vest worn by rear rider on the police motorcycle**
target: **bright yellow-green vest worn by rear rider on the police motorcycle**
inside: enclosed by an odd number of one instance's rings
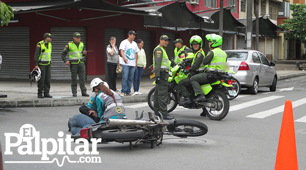
[[[214,52],[214,57],[207,66],[207,71],[225,72],[223,69],[224,63],[226,63],[226,53],[220,48],[211,50]]]

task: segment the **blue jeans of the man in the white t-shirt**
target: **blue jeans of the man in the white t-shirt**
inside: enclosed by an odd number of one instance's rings
[[[131,93],[134,72],[135,72],[135,66],[122,65],[121,93],[125,93],[125,94]]]

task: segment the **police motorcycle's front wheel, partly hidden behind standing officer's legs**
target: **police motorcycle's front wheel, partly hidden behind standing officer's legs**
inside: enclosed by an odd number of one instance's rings
[[[153,102],[154,102],[154,91],[155,91],[155,87],[153,87],[148,93],[148,105],[152,110],[154,110],[154,104],[153,104]],[[177,103],[178,103],[177,95],[173,90],[171,90],[171,92],[168,92],[168,99],[167,99],[167,111],[168,111],[168,113],[172,112],[176,108]]]

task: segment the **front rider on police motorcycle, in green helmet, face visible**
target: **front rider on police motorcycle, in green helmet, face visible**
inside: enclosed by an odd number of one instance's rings
[[[181,80],[178,84],[182,92],[182,96],[185,99],[183,102],[179,103],[180,106],[191,103],[190,94],[187,89],[187,87],[191,86],[190,77],[199,73],[203,73],[205,69],[205,66],[202,64],[202,61],[205,57],[205,53],[202,49],[203,45],[202,38],[199,35],[193,35],[190,38],[189,43],[190,43],[190,48],[192,49],[194,55],[191,67],[184,71],[185,74],[189,73],[188,77]]]

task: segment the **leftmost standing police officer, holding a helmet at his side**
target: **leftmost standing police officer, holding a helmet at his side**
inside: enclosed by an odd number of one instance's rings
[[[37,97],[38,98],[52,98],[49,94],[51,81],[51,41],[54,38],[50,33],[44,34],[44,40],[36,45],[34,54],[35,69],[40,69],[41,77],[37,82]],[[44,93],[44,95],[43,95]]]

